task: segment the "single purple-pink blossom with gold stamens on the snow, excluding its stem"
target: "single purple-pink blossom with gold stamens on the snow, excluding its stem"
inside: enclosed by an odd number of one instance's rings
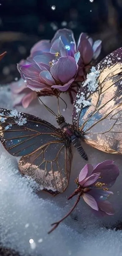
[[[106,160],[96,167],[86,164],[78,177],[78,186],[84,201],[100,215],[113,215],[114,209],[106,199],[113,194],[109,188],[114,185],[119,169],[112,160]]]

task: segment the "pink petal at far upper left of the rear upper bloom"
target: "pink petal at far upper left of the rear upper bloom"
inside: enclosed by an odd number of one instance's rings
[[[50,48],[50,40],[41,40],[31,48],[31,54],[33,54],[35,51],[50,52]]]

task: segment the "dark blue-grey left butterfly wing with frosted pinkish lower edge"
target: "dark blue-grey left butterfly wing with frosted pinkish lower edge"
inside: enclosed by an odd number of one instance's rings
[[[60,129],[16,110],[0,109],[0,140],[11,155],[22,156],[19,169],[41,189],[56,195],[68,186],[71,150]]]

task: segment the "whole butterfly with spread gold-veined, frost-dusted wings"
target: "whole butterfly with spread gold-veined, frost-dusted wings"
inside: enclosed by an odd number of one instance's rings
[[[87,160],[81,142],[107,153],[122,153],[122,48],[91,69],[76,96],[73,125],[56,116],[60,129],[41,118],[0,109],[0,140],[19,169],[53,196],[63,193],[71,171],[71,143]],[[45,105],[45,104],[44,104]],[[49,108],[48,108],[49,110]],[[52,114],[54,112],[52,111]]]

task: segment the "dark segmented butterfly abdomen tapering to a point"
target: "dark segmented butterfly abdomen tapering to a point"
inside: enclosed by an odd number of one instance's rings
[[[76,137],[76,135],[71,136],[71,142],[72,142],[73,146],[77,149],[80,156],[83,157],[85,160],[88,160],[88,157],[87,157],[83,147],[81,146],[79,139]]]

